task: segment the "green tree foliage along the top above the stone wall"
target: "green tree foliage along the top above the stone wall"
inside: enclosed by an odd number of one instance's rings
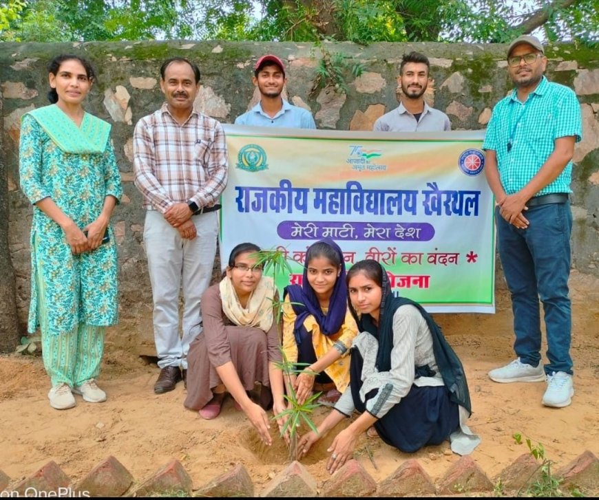
[[[599,0],[10,0],[0,12],[6,5],[4,40],[599,41]]]

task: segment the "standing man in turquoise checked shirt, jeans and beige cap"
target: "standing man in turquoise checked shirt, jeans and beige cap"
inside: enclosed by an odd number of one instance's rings
[[[515,89],[493,110],[483,149],[496,199],[499,257],[512,294],[518,358],[489,372],[495,382],[543,382],[545,406],[568,406],[572,383],[568,296],[572,215],[569,193],[574,144],[582,138],[574,91],[550,83],[547,57],[534,36],[507,49]],[[543,303],[548,363],[541,364]]]

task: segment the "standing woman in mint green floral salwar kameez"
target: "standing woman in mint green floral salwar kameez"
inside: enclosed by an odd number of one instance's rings
[[[106,400],[96,384],[105,327],[118,319],[117,261],[109,220],[122,188],[110,125],[82,102],[94,79],[78,56],[48,65],[50,102],[23,116],[21,189],[33,204],[28,330],[41,329],[50,405]]]

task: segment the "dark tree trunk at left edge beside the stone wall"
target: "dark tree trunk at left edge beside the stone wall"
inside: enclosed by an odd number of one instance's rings
[[[0,93],[0,111],[2,107]],[[4,135],[0,133],[0,151],[5,151],[3,146]],[[8,250],[8,176],[4,155],[0,155],[0,352],[12,352],[19,343],[15,293],[14,270]]]

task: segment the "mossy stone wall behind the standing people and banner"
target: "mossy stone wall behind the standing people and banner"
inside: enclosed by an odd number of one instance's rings
[[[112,138],[125,192],[114,214],[120,259],[119,336],[123,342],[143,343],[149,351],[151,291],[142,245],[141,198],[133,184],[132,135],[137,120],[162,102],[158,69],[165,58],[179,55],[198,63],[202,89],[197,105],[224,123],[233,122],[257,101],[251,84],[252,67],[266,53],[277,54],[286,62],[286,98],[311,109],[321,129],[372,129],[379,116],[397,106],[399,63],[402,54],[410,50],[429,56],[434,83],[429,87],[428,102],[448,113],[453,129],[484,129],[493,106],[511,88],[505,45],[376,43],[361,47],[325,43],[324,47],[330,53],[344,54],[347,93],[332,87],[313,90],[322,52],[310,43],[0,43],[2,153],[8,172],[10,257],[21,326],[25,325],[30,294],[32,209],[19,189],[19,124],[23,113],[48,104],[45,65],[56,54],[81,54],[90,58],[98,71],[98,82],[86,107],[113,124]],[[580,272],[599,275],[599,54],[574,45],[558,45],[550,47],[547,56],[548,78],[576,91],[584,122],[584,139],[574,155],[573,265]],[[365,71],[354,78],[351,68],[357,63],[364,65]],[[6,221],[1,221],[0,231],[2,227],[6,228]]]

